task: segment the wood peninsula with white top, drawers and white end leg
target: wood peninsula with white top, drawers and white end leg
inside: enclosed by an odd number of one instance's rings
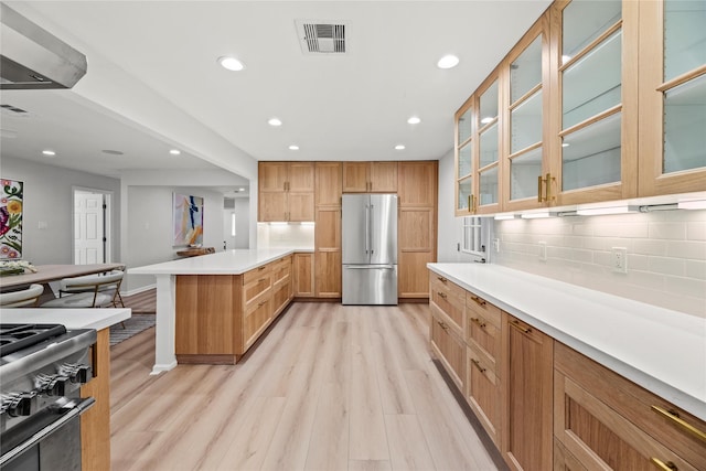
[[[245,314],[252,314],[248,319],[257,320],[258,323],[253,335],[245,339],[244,345],[240,346],[249,347],[253,338],[261,334],[271,322],[271,319],[264,319],[266,314],[277,312],[272,311],[275,301],[268,298],[275,293],[277,281],[282,280],[282,287],[291,288],[287,266],[282,265],[276,274],[272,271],[277,269],[275,263],[289,257],[290,270],[290,256],[295,251],[297,250],[291,248],[234,249],[130,268],[129,274],[154,275],[157,279],[157,329],[152,374],[167,372],[176,366],[178,336],[181,339],[180,349],[183,347],[185,352],[180,355],[182,362],[235,363],[242,354],[238,345],[226,344],[227,336],[225,342],[220,342],[220,339],[223,339],[221,335],[237,336],[238,332],[235,330],[239,329],[239,325],[235,318],[239,319]],[[263,276],[257,276],[256,270]],[[277,278],[278,276],[280,278]],[[236,285],[243,289],[236,290]],[[286,302],[290,299],[291,297]],[[180,315],[183,314],[180,317],[182,321],[179,327],[178,303],[182,310]],[[252,312],[248,311],[250,307]],[[236,350],[233,350],[234,347]]]

